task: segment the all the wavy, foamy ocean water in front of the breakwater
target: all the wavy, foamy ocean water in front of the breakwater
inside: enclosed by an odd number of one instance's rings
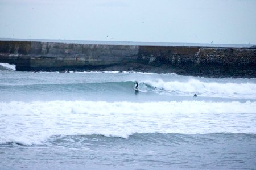
[[[256,79],[6,67],[0,169],[256,167]]]

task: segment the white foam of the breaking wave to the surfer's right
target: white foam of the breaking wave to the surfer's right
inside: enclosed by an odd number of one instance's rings
[[[197,79],[190,79],[187,82],[164,82],[146,81],[150,86],[166,91],[175,91],[180,94],[200,94],[201,96],[211,97],[234,97],[240,99],[256,99],[256,84],[255,83],[216,83],[216,82],[201,82]]]

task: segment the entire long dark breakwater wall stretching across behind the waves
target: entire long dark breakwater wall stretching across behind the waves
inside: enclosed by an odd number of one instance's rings
[[[146,71],[256,78],[256,48],[0,41],[17,71]]]

